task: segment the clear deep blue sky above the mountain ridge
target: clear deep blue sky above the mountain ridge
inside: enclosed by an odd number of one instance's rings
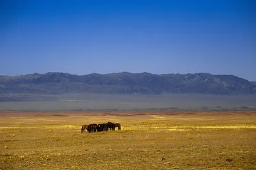
[[[0,0],[0,74],[50,71],[256,81],[256,1]]]

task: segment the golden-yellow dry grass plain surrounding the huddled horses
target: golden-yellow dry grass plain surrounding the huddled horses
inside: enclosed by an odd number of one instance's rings
[[[256,169],[255,141],[256,111],[0,113],[0,169]]]

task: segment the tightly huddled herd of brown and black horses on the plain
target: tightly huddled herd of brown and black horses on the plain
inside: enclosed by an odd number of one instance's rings
[[[112,122],[108,122],[107,124],[90,124],[90,125],[83,125],[81,128],[81,133],[87,129],[87,132],[102,132],[102,131],[115,131],[115,128],[118,128],[121,131],[120,124],[114,124]]]

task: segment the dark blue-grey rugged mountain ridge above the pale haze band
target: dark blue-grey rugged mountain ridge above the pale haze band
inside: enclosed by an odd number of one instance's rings
[[[234,75],[49,72],[0,76],[0,94],[256,94],[256,83]]]

